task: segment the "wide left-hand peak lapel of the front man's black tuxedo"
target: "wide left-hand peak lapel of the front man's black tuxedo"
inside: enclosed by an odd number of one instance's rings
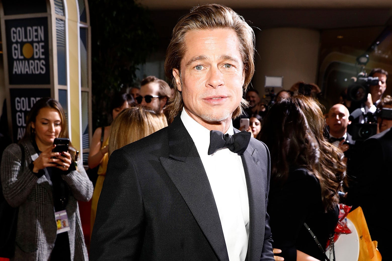
[[[218,258],[229,261],[214,195],[196,146],[179,116],[169,128],[169,158],[160,157],[160,162]]]

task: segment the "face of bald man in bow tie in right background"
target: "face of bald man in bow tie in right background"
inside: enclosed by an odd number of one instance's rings
[[[348,116],[350,116],[350,113],[344,105],[335,104],[332,106],[332,108],[329,110],[327,118],[327,124],[331,134],[347,131],[347,126],[351,123],[351,121],[348,120]]]

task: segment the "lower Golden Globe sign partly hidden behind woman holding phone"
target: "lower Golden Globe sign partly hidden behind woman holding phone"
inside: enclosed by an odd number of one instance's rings
[[[9,89],[11,98],[12,134],[14,142],[22,139],[26,129],[26,116],[34,103],[42,97],[50,97],[49,88]]]

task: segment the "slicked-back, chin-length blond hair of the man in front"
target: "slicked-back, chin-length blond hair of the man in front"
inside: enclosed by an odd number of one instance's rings
[[[174,118],[182,110],[183,101],[181,93],[176,88],[176,79],[173,77],[174,68],[181,70],[180,63],[185,49],[185,34],[190,31],[213,30],[213,29],[232,29],[236,32],[240,42],[240,53],[242,56],[245,81],[243,90],[245,91],[254,74],[254,32],[245,22],[244,18],[235,13],[231,8],[209,4],[194,7],[189,14],[183,16],[173,29],[172,39],[167,47],[165,59],[165,74],[172,81],[174,87],[174,97],[166,106],[169,111],[169,119]],[[236,118],[243,112],[243,107],[248,105],[245,99],[241,100],[240,105],[233,112],[232,118]]]

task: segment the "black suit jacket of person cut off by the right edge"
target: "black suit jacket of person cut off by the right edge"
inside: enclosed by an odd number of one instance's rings
[[[383,260],[392,260],[392,229],[387,214],[392,196],[392,128],[373,135],[361,144],[352,158],[356,180],[347,194],[352,210],[360,206],[372,240],[378,241]]]

